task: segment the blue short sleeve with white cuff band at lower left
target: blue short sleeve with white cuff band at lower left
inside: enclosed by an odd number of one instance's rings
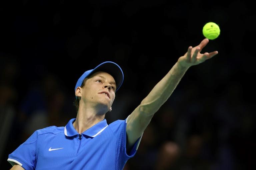
[[[36,165],[37,131],[35,131],[24,143],[9,154],[7,161],[18,164],[25,170],[33,170]]]

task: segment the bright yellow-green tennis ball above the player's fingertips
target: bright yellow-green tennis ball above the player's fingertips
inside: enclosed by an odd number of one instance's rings
[[[214,40],[220,35],[220,28],[217,24],[209,22],[203,27],[203,35],[209,40]]]

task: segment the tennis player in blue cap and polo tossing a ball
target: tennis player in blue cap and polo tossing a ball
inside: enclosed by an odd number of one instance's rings
[[[208,42],[204,39],[190,46],[125,120],[110,125],[104,118],[112,110],[115,92],[123,83],[122,69],[116,63],[104,62],[86,71],[75,86],[79,104],[76,119],[65,127],[35,131],[9,155],[12,169],[123,169],[135,155],[143,131],[187,69],[218,53],[200,53]]]

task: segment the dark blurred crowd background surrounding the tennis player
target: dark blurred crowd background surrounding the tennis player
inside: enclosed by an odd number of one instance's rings
[[[126,117],[215,22],[203,52],[144,131],[125,170],[240,170],[255,165],[255,18],[246,1],[23,0],[0,2],[0,164],[33,131],[76,117],[84,71],[124,72],[108,124]]]

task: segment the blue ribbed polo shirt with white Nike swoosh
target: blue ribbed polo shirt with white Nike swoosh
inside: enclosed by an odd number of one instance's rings
[[[71,119],[65,127],[36,130],[12,152],[8,161],[25,170],[119,170],[137,152],[140,140],[126,151],[125,120],[107,124],[106,119],[79,134]]]

